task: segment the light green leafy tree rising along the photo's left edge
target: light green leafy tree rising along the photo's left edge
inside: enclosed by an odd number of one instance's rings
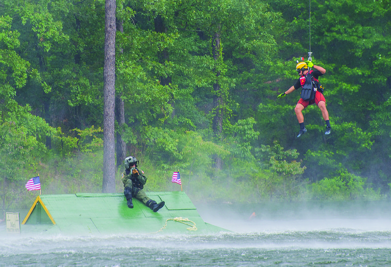
[[[15,100],[17,89],[23,88],[29,79],[41,83],[42,78],[15,52],[20,46],[20,33],[11,29],[12,18],[0,16],[0,200],[3,209],[22,198],[22,183],[45,157],[45,137],[51,136],[53,130],[42,118],[30,114],[29,105],[22,107]]]

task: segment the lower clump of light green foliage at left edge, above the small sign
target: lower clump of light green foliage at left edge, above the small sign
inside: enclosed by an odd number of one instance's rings
[[[43,119],[28,113],[28,107],[20,107],[8,97],[4,100],[14,103],[14,106],[0,114],[0,182],[3,185],[0,199],[3,209],[25,200],[20,197],[23,185],[26,177],[31,173],[35,175],[41,160],[47,155],[41,140],[50,133]],[[8,105],[4,103],[3,108],[6,107]]]

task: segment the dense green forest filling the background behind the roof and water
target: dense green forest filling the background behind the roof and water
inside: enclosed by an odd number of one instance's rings
[[[309,12],[310,10],[310,12]],[[205,202],[385,199],[391,186],[389,0],[117,0],[116,192]],[[2,209],[102,192],[105,0],[1,0]],[[332,132],[294,106],[296,60],[326,69]],[[0,206],[1,207],[1,206]]]

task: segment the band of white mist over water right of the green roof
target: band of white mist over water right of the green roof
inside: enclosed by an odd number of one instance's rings
[[[239,233],[354,229],[391,231],[391,202],[197,204],[205,222]]]

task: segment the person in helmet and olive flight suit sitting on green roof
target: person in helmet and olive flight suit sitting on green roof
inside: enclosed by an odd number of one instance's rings
[[[138,160],[133,157],[127,157],[125,159],[125,172],[122,172],[121,180],[124,183],[124,195],[128,201],[128,207],[133,209],[132,197],[142,201],[153,212],[156,212],[163,208],[164,201],[159,204],[156,201],[150,199],[143,191],[144,185],[147,182],[143,171],[137,169]],[[141,172],[141,173],[140,173]]]

